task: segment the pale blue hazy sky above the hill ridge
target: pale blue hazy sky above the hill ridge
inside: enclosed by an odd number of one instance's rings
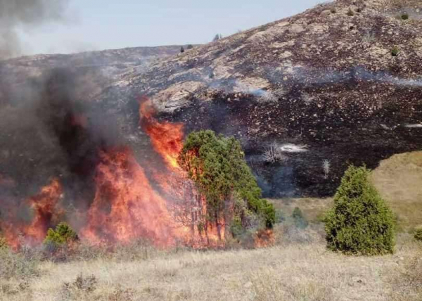
[[[20,30],[24,54],[203,44],[321,0],[70,0],[63,23]]]

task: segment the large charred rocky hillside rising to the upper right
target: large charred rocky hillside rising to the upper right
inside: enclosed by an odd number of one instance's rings
[[[422,2],[340,0],[128,72],[113,98],[235,135],[269,195],[325,195],[350,163],[421,149],[421,62]]]

